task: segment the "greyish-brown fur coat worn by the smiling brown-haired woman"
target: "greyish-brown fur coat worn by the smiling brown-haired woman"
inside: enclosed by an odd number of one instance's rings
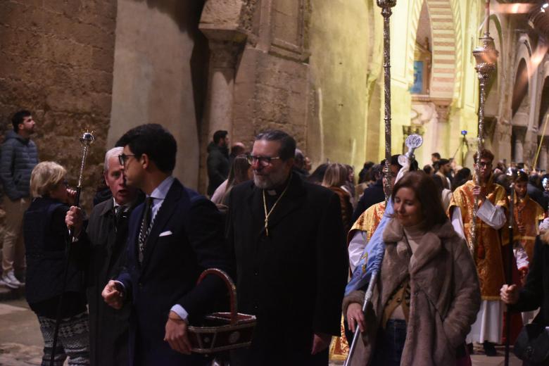
[[[351,365],[369,364],[384,307],[408,272],[410,317],[400,365],[455,365],[455,351],[465,342],[481,303],[477,270],[465,241],[446,222],[424,234],[410,258],[396,220],[389,222],[383,237],[381,275]],[[363,298],[363,291],[349,294],[343,299],[343,314],[350,303],[362,304]]]

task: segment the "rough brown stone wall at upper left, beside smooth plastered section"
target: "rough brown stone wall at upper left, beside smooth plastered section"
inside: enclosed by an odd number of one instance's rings
[[[40,160],[68,168],[77,184],[82,148],[94,131],[82,203],[91,207],[101,166],[113,83],[115,0],[0,1],[0,129],[11,115],[32,111]]]

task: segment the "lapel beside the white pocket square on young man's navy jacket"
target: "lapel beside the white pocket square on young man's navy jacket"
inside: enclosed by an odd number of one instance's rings
[[[170,190],[168,191],[168,194],[164,198],[162,206],[160,206],[160,209],[158,210],[158,213],[156,213],[156,217],[154,218],[153,227],[151,227],[151,232],[149,233],[149,237],[146,241],[145,253],[143,255],[143,264],[141,266],[141,273],[146,270],[146,267],[151,260],[151,255],[154,251],[156,243],[158,242],[158,236],[165,228],[168,220],[170,220],[170,217],[172,217],[175,209],[179,204],[179,199],[182,197],[182,194],[183,186],[181,185],[181,183],[179,183],[179,181],[177,181],[177,179],[175,179],[172,183],[172,187],[170,187]],[[187,196],[187,194],[185,194],[184,196],[187,198],[187,201],[189,201],[189,197]]]

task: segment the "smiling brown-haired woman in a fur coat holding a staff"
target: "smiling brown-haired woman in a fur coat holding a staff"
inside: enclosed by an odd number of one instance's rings
[[[409,172],[391,197],[372,303],[364,315],[364,291],[343,300],[351,330],[362,332],[351,365],[455,365],[481,302],[477,270],[431,177]]]

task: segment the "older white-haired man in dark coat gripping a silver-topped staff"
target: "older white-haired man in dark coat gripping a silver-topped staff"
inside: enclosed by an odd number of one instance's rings
[[[65,223],[73,227],[77,237],[72,251],[80,252],[86,261],[92,365],[127,365],[130,305],[114,310],[101,297],[108,280],[120,274],[126,253],[128,217],[143,201],[138,199],[137,189],[126,186],[124,168],[118,161],[121,153],[122,147],[115,147],[105,154],[103,177],[112,198],[94,207],[87,230],[82,231],[80,208],[72,206],[65,217]]]

